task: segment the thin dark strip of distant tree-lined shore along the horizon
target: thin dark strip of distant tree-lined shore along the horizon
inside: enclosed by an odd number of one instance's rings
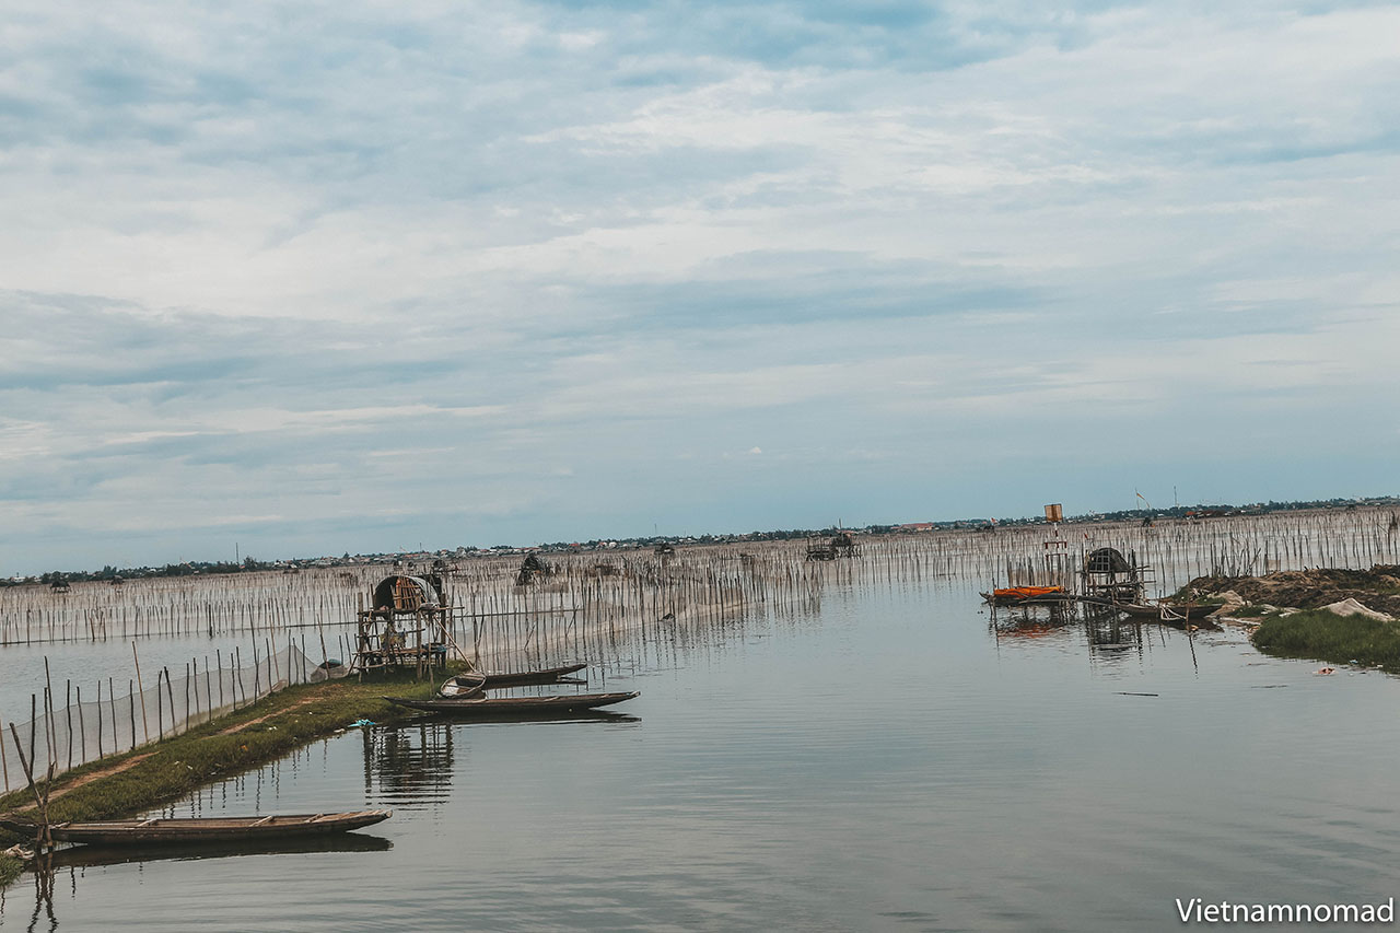
[[[1261,516],[1271,511],[1298,511],[1316,509],[1371,509],[1371,507],[1400,507],[1400,496],[1372,496],[1362,499],[1326,499],[1312,502],[1267,502],[1247,506],[1172,506],[1169,509],[1127,509],[1121,511],[1096,513],[1089,511],[1081,516],[1070,516],[1067,523],[1099,523],[1099,521],[1144,521],[1155,520],[1208,520],[1226,516]],[[946,521],[911,521],[892,525],[865,525],[864,528],[794,528],[787,531],[750,531],[735,535],[650,535],[643,538],[617,538],[594,541],[557,541],[535,546],[491,545],[489,548],[475,548],[463,545],[459,548],[444,548],[440,551],[414,552],[384,552],[384,553],[344,553],[339,558],[293,558],[284,560],[259,560],[244,558],[237,562],[221,560],[186,560],[168,563],[158,567],[113,567],[105,566],[101,570],[50,570],[36,576],[0,577],[0,587],[6,586],[64,586],[78,581],[108,581],[122,583],[125,580],[141,577],[183,577],[195,574],[218,573],[249,573],[276,570],[283,573],[298,573],[308,567],[346,567],[357,565],[419,565],[431,566],[437,562],[465,560],[472,558],[493,558],[500,555],[522,555],[531,552],[543,553],[575,553],[588,551],[627,551],[643,548],[659,548],[664,545],[706,545],[706,544],[739,544],[745,541],[791,541],[819,535],[833,535],[840,531],[857,535],[886,535],[886,534],[927,534],[932,531],[973,530],[995,534],[997,528],[1018,525],[1046,524],[1043,516],[1021,518],[955,518]]]

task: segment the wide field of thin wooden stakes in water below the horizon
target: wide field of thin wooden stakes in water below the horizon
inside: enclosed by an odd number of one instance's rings
[[[1060,525],[1067,563],[1110,545],[1154,567],[1163,593],[1197,576],[1246,576],[1302,567],[1369,567],[1400,562],[1400,520],[1390,510],[1326,510],[1207,520],[1071,523]],[[466,558],[448,573],[455,615],[476,621],[459,642],[482,642],[484,625],[515,640],[526,621],[570,615],[589,625],[620,625],[668,614],[713,615],[750,604],[792,604],[827,581],[1008,580],[1044,566],[1047,525],[988,531],[934,531],[861,538],[853,559],[808,562],[799,541],[546,555],[552,576],[515,586],[519,555]],[[354,621],[370,587],[389,565],[130,580],[120,587],[76,583],[0,588],[0,644],[140,640],[174,635],[269,633],[326,629]],[[279,637],[279,642],[283,640]],[[339,639],[332,637],[335,646]],[[335,649],[332,649],[335,650]]]

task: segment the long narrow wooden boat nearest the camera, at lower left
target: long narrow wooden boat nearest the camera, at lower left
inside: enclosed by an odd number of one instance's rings
[[[151,845],[189,842],[238,842],[246,839],[286,839],[288,836],[319,836],[372,827],[392,815],[388,810],[354,810],[350,813],[305,813],[266,817],[210,817],[148,820],[106,820],[101,822],[56,822],[49,827],[55,842],[88,842],[99,845]],[[0,827],[27,836],[39,835],[39,827],[0,817]]]

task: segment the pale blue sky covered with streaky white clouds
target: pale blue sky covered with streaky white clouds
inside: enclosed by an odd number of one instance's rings
[[[1400,492],[1400,8],[0,13],[0,576]]]

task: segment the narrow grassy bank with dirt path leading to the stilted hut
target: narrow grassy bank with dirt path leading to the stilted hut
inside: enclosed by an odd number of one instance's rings
[[[364,684],[347,678],[291,686],[183,735],[74,768],[55,779],[49,817],[56,822],[129,817],[276,761],[358,719],[407,719],[410,710],[385,702],[382,695],[428,696],[434,689],[433,681],[414,682],[412,674]],[[0,797],[3,813],[32,815],[32,804],[28,789]],[[6,835],[0,832],[0,838]]]

